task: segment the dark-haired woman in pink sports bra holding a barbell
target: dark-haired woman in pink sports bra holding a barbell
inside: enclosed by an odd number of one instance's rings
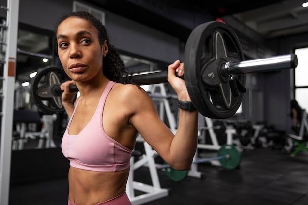
[[[105,27],[91,14],[62,16],[56,40],[63,69],[72,79],[61,85],[70,117],[62,139],[62,152],[70,160],[68,205],[131,205],[125,188],[138,132],[173,168],[190,168],[197,148],[197,111],[180,109],[174,135],[149,95],[129,83]],[[168,66],[168,81],[179,100],[191,101],[176,72],[184,75],[179,60]],[[80,92],[75,105],[71,84]]]

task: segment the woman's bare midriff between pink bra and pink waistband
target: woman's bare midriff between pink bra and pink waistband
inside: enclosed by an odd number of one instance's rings
[[[118,172],[95,172],[70,167],[69,200],[77,205],[95,205],[126,189],[129,168]]]

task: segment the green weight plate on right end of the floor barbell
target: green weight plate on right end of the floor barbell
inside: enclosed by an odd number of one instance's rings
[[[241,152],[234,145],[222,145],[218,150],[218,156],[230,156],[229,158],[219,159],[221,166],[226,170],[234,170],[241,163]]]

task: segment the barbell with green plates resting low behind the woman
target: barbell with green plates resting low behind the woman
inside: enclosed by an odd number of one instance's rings
[[[234,170],[239,167],[242,160],[242,155],[236,146],[224,144],[218,150],[216,157],[196,159],[192,161],[192,164],[211,162],[215,160],[220,162],[222,168],[226,170]],[[169,164],[157,165],[156,168],[164,168],[166,176],[174,182],[184,180],[189,172],[189,170],[173,169]]]

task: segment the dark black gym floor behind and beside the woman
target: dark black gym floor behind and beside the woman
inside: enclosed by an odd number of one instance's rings
[[[295,158],[282,149],[258,148],[242,152],[240,167],[224,170],[198,164],[202,178],[187,176],[171,181],[159,170],[162,188],[169,196],[145,205],[308,205],[308,152]],[[136,181],[150,183],[145,167],[134,174]],[[11,185],[9,205],[66,205],[66,177]]]

